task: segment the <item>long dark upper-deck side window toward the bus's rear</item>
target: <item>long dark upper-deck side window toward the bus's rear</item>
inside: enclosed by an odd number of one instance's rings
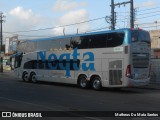
[[[106,33],[74,37],[70,46],[78,49],[116,47],[123,44],[124,33]]]

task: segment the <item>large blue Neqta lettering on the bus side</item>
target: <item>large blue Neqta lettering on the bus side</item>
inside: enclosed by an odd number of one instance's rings
[[[42,62],[44,64],[46,64],[46,61],[48,61],[48,67],[49,67],[50,70],[57,70],[58,67],[59,67],[61,70],[66,71],[66,74],[65,74],[66,77],[70,77],[71,76],[70,75],[71,55],[73,57],[73,65],[72,66],[73,66],[74,70],[80,70],[80,67],[81,67],[83,71],[88,71],[88,70],[95,71],[95,68],[94,68],[94,54],[92,52],[83,53],[82,65],[78,66],[75,63],[78,60],[78,56],[80,56],[80,53],[77,52],[77,48],[73,49],[72,54],[71,53],[64,53],[64,54],[61,54],[59,56],[59,58],[54,53],[50,54],[48,56],[48,58],[46,58],[46,51],[40,51],[40,52],[37,52],[37,61],[42,60]],[[62,62],[64,59],[66,60],[65,65]],[[51,64],[51,62],[56,61],[56,60],[58,60],[59,63],[53,66]],[[37,64],[38,64],[38,62],[37,62]]]

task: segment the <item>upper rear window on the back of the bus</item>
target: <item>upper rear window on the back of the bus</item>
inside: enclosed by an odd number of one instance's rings
[[[150,35],[146,31],[132,30],[131,37],[132,37],[132,42],[146,42],[150,44]]]

